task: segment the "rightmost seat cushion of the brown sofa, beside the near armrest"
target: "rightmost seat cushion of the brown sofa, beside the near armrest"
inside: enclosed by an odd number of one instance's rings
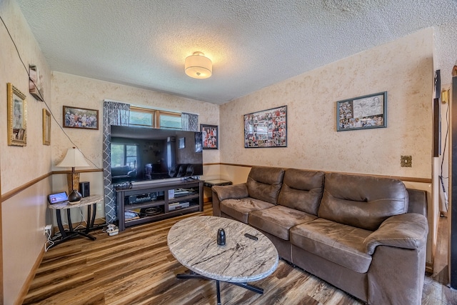
[[[366,273],[371,264],[371,255],[363,245],[371,233],[321,218],[290,230],[293,245],[358,273]]]

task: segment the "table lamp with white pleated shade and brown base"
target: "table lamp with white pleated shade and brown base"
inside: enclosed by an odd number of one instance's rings
[[[79,149],[73,147],[66,151],[65,158],[57,164],[59,167],[71,167],[71,173],[66,174],[66,181],[69,186],[69,201],[80,201],[82,196],[78,191],[79,188],[79,173],[74,171],[76,166],[89,166]]]

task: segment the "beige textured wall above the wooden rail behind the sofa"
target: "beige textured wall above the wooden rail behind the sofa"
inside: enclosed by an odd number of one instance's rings
[[[431,178],[432,56],[424,29],[221,105],[221,162]],[[336,131],[336,101],[381,91],[387,128]],[[282,105],[288,147],[245,149],[243,114]]]

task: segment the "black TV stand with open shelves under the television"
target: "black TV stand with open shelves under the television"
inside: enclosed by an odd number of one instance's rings
[[[202,180],[161,181],[115,189],[119,231],[126,227],[203,211]]]

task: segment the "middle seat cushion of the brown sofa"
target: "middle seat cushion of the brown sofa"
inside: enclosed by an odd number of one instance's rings
[[[257,229],[288,241],[291,227],[316,218],[314,215],[287,206],[273,206],[269,209],[252,211],[249,214],[248,223]]]

